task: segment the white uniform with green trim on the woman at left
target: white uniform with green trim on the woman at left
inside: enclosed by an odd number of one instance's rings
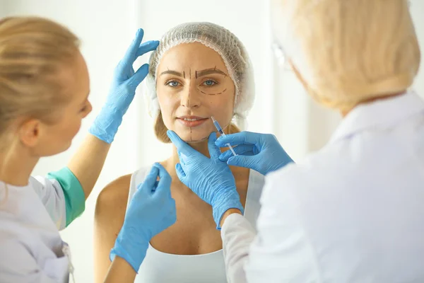
[[[58,229],[73,220],[66,212],[83,197],[81,185],[73,189],[70,202],[57,180],[31,177],[24,187],[0,182],[0,283],[69,282],[69,247]]]

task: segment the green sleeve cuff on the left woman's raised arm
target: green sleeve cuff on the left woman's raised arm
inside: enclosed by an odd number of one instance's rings
[[[66,226],[71,224],[84,209],[86,209],[86,195],[83,187],[75,175],[65,167],[59,171],[49,173],[47,178],[54,179],[59,182],[64,191],[66,204]]]

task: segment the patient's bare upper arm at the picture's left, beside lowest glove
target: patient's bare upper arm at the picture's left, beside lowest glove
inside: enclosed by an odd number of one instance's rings
[[[94,276],[98,283],[103,282],[110,269],[110,250],[124,224],[130,180],[131,175],[124,175],[107,185],[100,192],[95,206]]]

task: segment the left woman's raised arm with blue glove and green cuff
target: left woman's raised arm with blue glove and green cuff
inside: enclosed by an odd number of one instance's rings
[[[142,40],[143,30],[139,29],[126,54],[115,68],[106,103],[91,125],[90,134],[71,159],[68,168],[64,168],[59,173],[49,174],[49,178],[57,180],[64,190],[64,200],[61,202],[66,204],[66,225],[83,211],[85,200],[98,180],[110,144],[117,134],[126,110],[134,99],[136,88],[148,74],[148,64],[144,64],[135,71],[134,61],[146,52],[155,50],[159,42],[148,41],[141,44]]]

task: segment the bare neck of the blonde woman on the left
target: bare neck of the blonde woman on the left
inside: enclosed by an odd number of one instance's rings
[[[31,156],[19,145],[0,151],[0,180],[9,185],[25,186],[40,158]]]

